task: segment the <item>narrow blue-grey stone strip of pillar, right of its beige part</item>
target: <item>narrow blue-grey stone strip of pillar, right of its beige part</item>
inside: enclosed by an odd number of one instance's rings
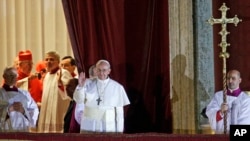
[[[212,16],[212,1],[195,0],[193,5],[197,129],[201,133],[212,133],[209,131],[208,119],[200,114],[215,90],[213,28],[206,22]]]

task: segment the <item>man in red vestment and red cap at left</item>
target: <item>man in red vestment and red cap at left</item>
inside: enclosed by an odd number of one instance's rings
[[[38,79],[37,75],[32,74],[33,61],[32,53],[29,50],[20,51],[18,53],[19,68],[17,87],[30,92],[32,98],[37,103],[38,107],[41,106],[42,98],[42,82]]]

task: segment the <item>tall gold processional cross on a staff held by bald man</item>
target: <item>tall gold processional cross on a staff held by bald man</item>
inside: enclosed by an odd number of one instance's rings
[[[228,23],[234,23],[235,26],[242,20],[237,17],[237,15],[234,16],[234,18],[227,18],[227,10],[229,8],[223,3],[223,5],[219,9],[221,11],[221,18],[215,19],[211,17],[208,20],[208,23],[213,24],[221,24],[221,31],[219,34],[221,35],[221,42],[219,46],[222,48],[222,51],[220,52],[219,57],[223,59],[223,102],[227,103],[227,83],[226,83],[226,73],[227,73],[227,67],[226,67],[226,59],[229,58],[229,53],[227,52],[227,47],[230,46],[229,43],[227,43],[227,35],[230,33],[227,31],[227,24]],[[224,134],[227,133],[227,113],[224,113]]]

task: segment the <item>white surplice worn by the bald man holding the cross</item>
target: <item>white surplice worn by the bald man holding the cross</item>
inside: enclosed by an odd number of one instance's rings
[[[208,116],[211,129],[217,134],[224,132],[224,121],[216,121],[217,111],[220,110],[223,103],[223,91],[214,94],[213,99],[207,105],[206,115]],[[227,95],[227,104],[229,107],[227,113],[227,133],[229,133],[231,124],[249,124],[250,125],[250,96],[241,92],[238,97]]]

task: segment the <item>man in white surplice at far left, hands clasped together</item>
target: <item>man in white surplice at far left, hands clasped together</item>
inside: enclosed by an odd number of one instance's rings
[[[17,77],[16,68],[5,68],[0,88],[0,132],[28,132],[36,127],[38,106],[28,91],[15,86]]]

